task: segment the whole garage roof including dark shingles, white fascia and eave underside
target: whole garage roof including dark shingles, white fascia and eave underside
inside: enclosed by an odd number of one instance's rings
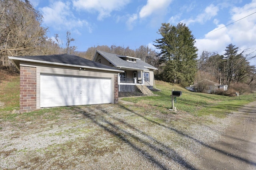
[[[106,66],[104,64],[100,64],[76,55],[69,55],[69,54],[18,56],[18,57],[8,57],[8,58],[16,65],[18,69],[20,68],[20,61],[27,61],[27,62],[33,62],[33,63],[74,66],[74,67],[81,67],[81,68],[92,68],[92,69],[98,69],[98,70],[122,72],[117,68]]]

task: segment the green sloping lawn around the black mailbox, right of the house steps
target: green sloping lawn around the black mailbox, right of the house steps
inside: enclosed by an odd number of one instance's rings
[[[162,113],[168,113],[172,107],[171,93],[182,91],[181,97],[176,97],[174,107],[178,111],[191,113],[195,116],[213,115],[216,117],[225,117],[228,113],[237,111],[238,108],[256,100],[256,96],[244,95],[239,97],[220,96],[215,94],[195,93],[170,83],[158,82],[156,88],[162,90],[154,92],[158,96],[143,96],[140,98],[123,98],[134,103],[143,103],[156,106]]]

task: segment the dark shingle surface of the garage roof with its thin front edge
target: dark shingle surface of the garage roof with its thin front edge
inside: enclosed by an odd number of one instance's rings
[[[82,57],[76,55],[68,55],[68,54],[60,54],[60,55],[37,55],[37,56],[18,56],[18,57],[9,57],[15,60],[24,61],[38,61],[38,63],[58,63],[58,65],[76,65],[76,66],[88,66],[88,67],[95,67],[95,68],[104,68],[104,69],[111,69],[111,70],[118,70],[117,68],[113,68],[111,66],[106,66],[104,64],[100,64],[94,61],[90,61],[88,59],[84,59]],[[42,61],[42,62],[40,62]]]

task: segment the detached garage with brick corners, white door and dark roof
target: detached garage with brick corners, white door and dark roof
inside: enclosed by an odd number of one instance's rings
[[[9,57],[20,70],[20,112],[118,103],[118,68],[75,55]]]

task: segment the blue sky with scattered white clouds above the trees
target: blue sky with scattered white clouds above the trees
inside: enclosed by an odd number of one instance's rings
[[[30,0],[48,37],[70,31],[77,51],[98,45],[137,49],[154,41],[162,23],[185,23],[202,51],[224,54],[229,44],[256,55],[256,0]],[[256,59],[250,61],[256,65]]]

